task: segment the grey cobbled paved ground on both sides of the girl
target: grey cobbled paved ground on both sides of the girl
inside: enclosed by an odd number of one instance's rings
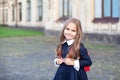
[[[44,36],[0,38],[0,80],[52,80],[56,44]],[[87,42],[86,47],[93,61],[89,80],[120,80],[119,46]]]

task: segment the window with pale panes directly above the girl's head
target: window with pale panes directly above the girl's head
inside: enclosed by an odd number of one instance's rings
[[[72,0],[59,0],[60,1],[60,19],[58,19],[58,21],[62,20],[66,20],[69,17],[72,16],[72,4],[71,1]]]

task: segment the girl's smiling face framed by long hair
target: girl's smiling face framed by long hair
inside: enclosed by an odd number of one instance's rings
[[[64,29],[64,36],[66,40],[74,39],[77,34],[77,27],[74,23],[69,23]]]

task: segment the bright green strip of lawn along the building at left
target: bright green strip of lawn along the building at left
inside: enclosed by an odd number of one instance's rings
[[[37,36],[37,35],[43,35],[43,32],[0,26],[0,37]]]

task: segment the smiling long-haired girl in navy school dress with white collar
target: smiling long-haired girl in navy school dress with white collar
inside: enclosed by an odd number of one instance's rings
[[[53,80],[88,80],[84,70],[92,61],[81,43],[82,27],[78,19],[68,19],[61,32],[54,63],[59,66]]]

